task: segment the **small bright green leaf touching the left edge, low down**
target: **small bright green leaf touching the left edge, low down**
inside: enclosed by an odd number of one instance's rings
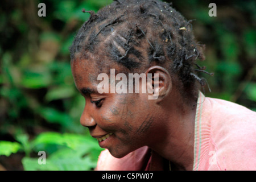
[[[17,142],[0,141],[0,155],[10,156],[21,148]]]

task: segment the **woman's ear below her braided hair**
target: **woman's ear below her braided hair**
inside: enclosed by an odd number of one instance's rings
[[[165,68],[155,65],[147,69],[146,76],[147,87],[151,89],[151,92],[148,90],[151,95],[151,98],[148,96],[148,99],[162,101],[172,89],[170,73]]]

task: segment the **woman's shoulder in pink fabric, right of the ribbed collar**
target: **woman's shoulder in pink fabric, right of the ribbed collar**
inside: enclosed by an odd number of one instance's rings
[[[233,102],[208,99],[218,166],[222,170],[255,170],[256,113]]]

